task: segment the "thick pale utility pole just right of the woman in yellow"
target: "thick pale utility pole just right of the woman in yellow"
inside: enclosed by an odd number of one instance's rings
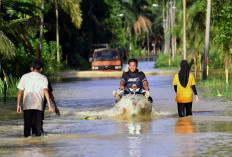
[[[209,38],[210,38],[210,14],[211,14],[211,0],[207,2],[207,16],[206,16],[206,30],[205,30],[205,63],[203,78],[207,79],[209,73]]]

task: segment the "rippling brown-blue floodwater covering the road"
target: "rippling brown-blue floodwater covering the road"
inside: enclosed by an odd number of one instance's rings
[[[148,66],[153,63],[144,62]],[[143,66],[140,67],[143,70]],[[146,70],[149,70],[146,67]],[[114,109],[120,78],[64,79],[53,83],[61,116],[46,112],[42,137],[23,137],[16,100],[0,102],[0,156],[192,157],[231,156],[231,103],[203,98],[193,116],[178,118],[173,76],[148,76],[151,116],[128,118]],[[85,120],[91,116],[101,119]]]

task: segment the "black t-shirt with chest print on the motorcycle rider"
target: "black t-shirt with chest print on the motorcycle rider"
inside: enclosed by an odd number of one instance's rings
[[[129,88],[132,84],[136,84],[140,88],[143,87],[143,82],[147,81],[147,78],[143,72],[136,70],[135,72],[125,72],[122,75],[121,81],[125,82],[125,87]]]

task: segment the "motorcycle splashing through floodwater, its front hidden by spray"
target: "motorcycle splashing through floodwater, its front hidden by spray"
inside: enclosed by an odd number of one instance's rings
[[[149,99],[149,100],[148,100]],[[123,115],[149,115],[152,112],[152,99],[146,96],[146,91],[137,84],[127,87],[115,107]]]

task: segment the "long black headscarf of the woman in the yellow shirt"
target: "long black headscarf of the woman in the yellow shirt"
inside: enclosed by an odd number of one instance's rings
[[[188,78],[189,78],[189,65],[186,60],[181,61],[180,71],[178,75],[179,75],[179,81],[180,81],[181,86],[186,87],[188,84]]]

